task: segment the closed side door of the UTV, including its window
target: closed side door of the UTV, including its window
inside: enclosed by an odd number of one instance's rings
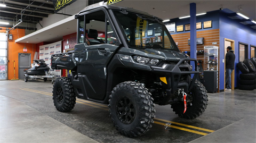
[[[120,41],[104,8],[82,14],[78,18],[78,44],[75,46],[79,80],[75,87],[80,87],[80,98],[103,100],[107,87],[106,66]]]

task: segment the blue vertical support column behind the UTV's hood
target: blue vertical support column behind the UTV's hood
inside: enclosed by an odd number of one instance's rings
[[[196,3],[190,3],[190,57],[196,58]],[[194,62],[191,62],[193,68]]]

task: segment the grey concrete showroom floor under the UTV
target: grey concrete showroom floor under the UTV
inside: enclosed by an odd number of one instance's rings
[[[256,142],[256,89],[209,93],[207,109],[193,120],[156,106],[153,127],[137,138],[115,130],[106,105],[77,99],[61,113],[51,92],[50,81],[0,81],[0,142]]]

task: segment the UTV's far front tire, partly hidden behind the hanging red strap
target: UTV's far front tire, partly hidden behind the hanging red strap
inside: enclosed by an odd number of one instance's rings
[[[183,112],[185,107],[183,100],[172,104],[171,108],[175,114],[178,114],[180,117],[194,119],[195,117],[202,115],[202,113],[205,111],[208,102],[208,95],[205,87],[197,80],[195,81],[194,87],[191,89],[189,94],[193,96],[193,102],[192,106],[187,105],[187,111],[184,114]]]

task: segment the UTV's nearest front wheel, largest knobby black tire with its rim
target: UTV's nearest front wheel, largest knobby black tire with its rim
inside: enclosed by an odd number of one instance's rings
[[[141,83],[133,81],[119,83],[113,88],[109,98],[109,116],[114,127],[121,134],[127,137],[138,137],[152,127],[155,104],[150,92]]]

